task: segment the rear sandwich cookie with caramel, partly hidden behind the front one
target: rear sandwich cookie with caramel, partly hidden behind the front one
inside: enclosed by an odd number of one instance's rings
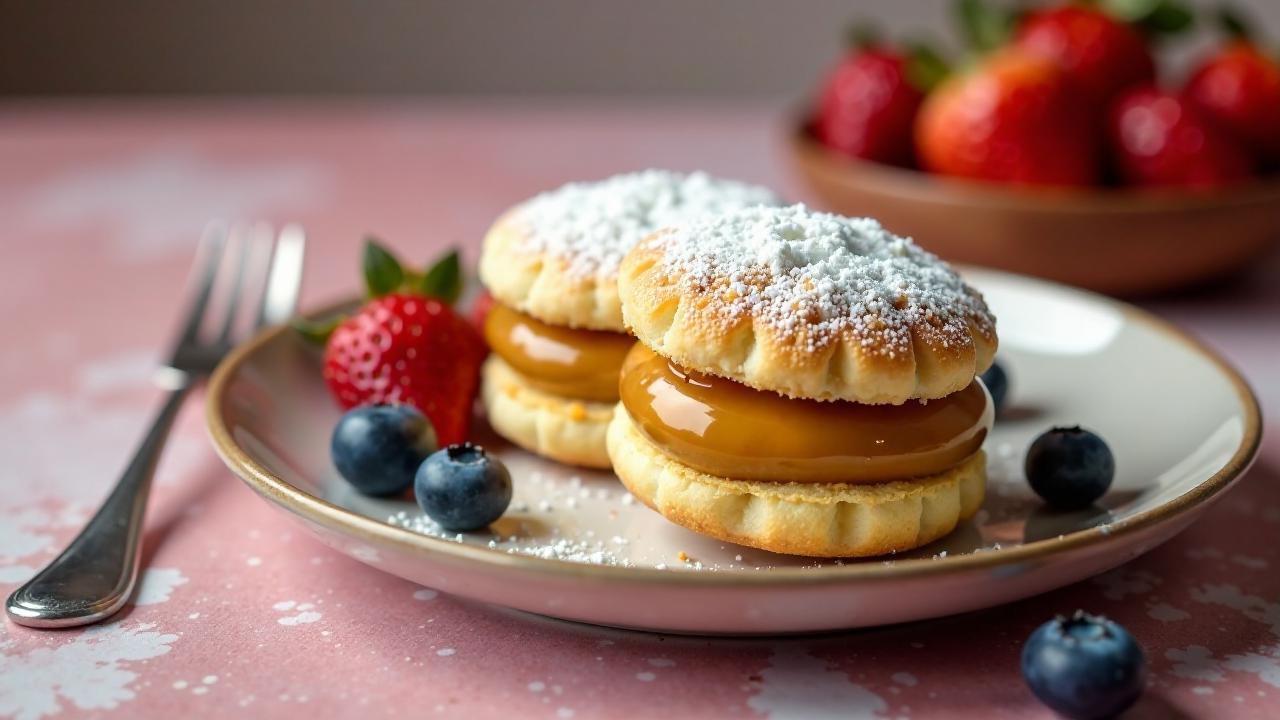
[[[571,183],[503,214],[480,281],[495,300],[481,398],[493,428],[553,460],[608,468],[618,370],[635,345],[618,264],[640,238],[701,215],[777,204],[762,187],[664,170]]]

